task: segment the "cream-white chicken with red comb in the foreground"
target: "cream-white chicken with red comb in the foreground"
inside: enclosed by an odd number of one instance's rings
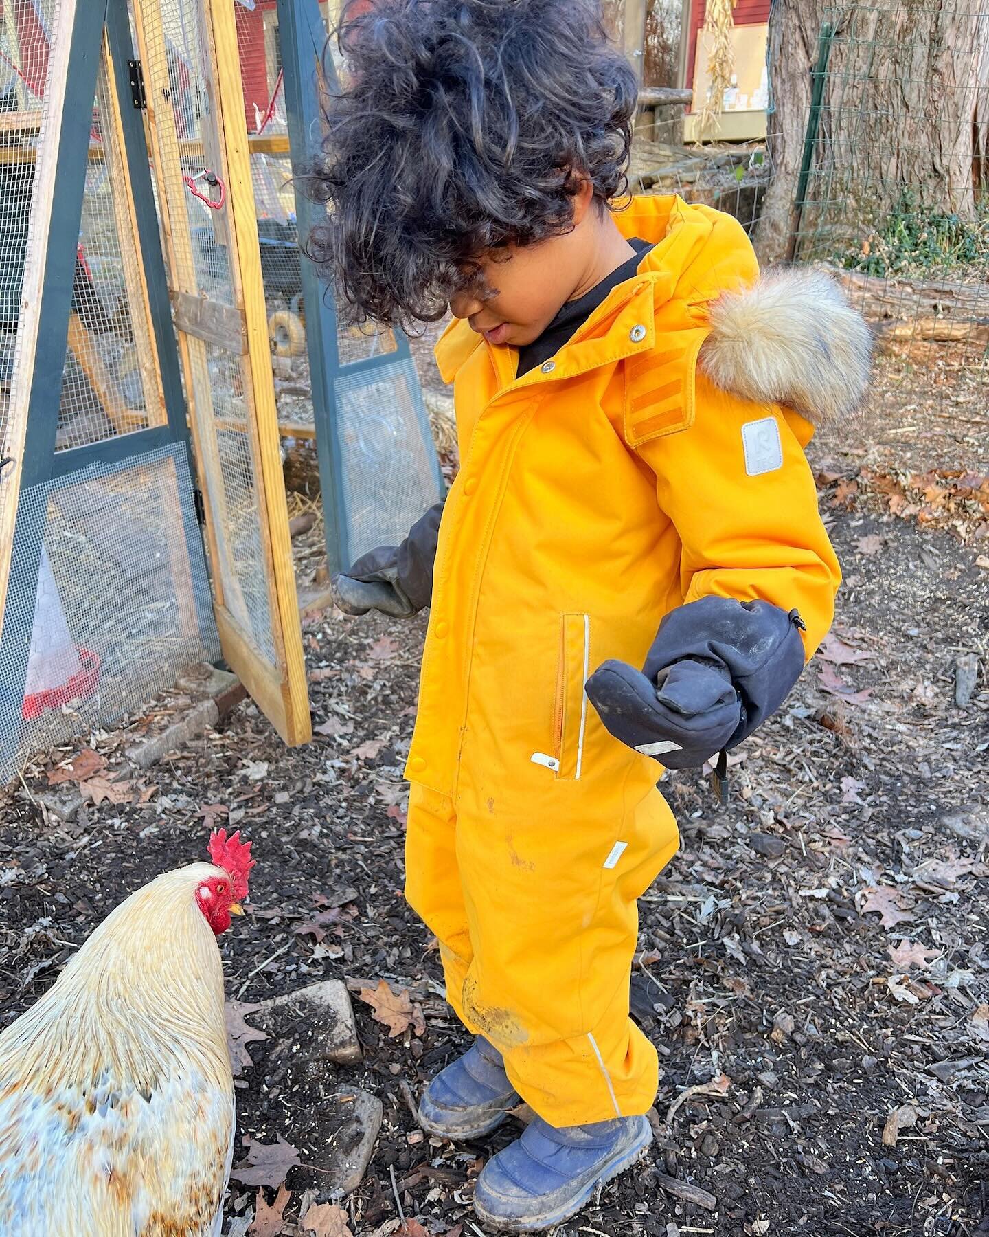
[[[219,1237],[234,1079],[215,938],[251,844],[122,902],[0,1034],[0,1237]]]

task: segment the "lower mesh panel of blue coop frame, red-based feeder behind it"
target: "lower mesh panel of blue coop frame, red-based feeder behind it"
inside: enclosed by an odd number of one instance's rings
[[[0,719],[20,735],[0,746],[2,781],[25,755],[119,719],[220,653],[205,560],[183,533],[195,518],[184,444],[28,486],[20,501],[42,549],[33,622],[20,632],[26,687],[0,691],[20,703]]]

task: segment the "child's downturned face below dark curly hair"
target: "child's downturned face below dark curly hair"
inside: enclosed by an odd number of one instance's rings
[[[524,348],[539,339],[566,302],[596,282],[600,231],[614,225],[593,208],[592,193],[585,182],[574,199],[574,228],[562,236],[477,259],[478,278],[450,301],[454,317],[466,318],[496,346]]]

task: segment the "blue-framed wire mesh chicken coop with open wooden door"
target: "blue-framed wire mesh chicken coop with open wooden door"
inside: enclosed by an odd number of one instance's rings
[[[310,734],[282,471],[330,563],[440,475],[408,341],[299,255],[316,0],[0,2],[0,774],[221,657]]]

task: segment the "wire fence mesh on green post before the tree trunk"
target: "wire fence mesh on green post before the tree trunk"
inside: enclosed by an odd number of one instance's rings
[[[880,351],[942,393],[989,356],[989,4],[826,14],[794,255],[833,268]]]

